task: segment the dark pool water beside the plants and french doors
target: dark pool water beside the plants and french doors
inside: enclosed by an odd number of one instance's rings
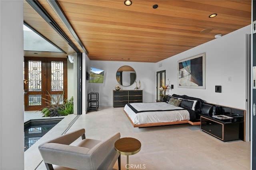
[[[24,152],[62,119],[36,119],[24,123]]]

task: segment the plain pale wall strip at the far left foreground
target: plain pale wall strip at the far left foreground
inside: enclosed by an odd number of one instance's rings
[[[24,169],[23,1],[0,0],[0,169]]]

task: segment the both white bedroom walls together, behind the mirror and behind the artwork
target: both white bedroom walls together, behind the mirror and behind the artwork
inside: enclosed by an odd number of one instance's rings
[[[87,72],[90,72],[90,67],[105,71],[104,83],[85,82],[86,95],[92,87],[94,91],[99,92],[100,106],[112,106],[112,91],[118,84],[116,71],[121,66],[129,65],[136,71],[136,80],[141,82],[143,102],[155,101],[156,72],[166,70],[166,83],[169,79],[170,85],[174,85],[174,89],[169,90],[167,94],[186,94],[208,103],[246,109],[246,34],[250,31],[250,26],[246,26],[158,63],[90,61],[86,56]],[[178,88],[177,62],[201,53],[206,53],[206,89]],[[162,64],[162,67],[158,67],[159,64]],[[231,77],[231,81],[228,81],[228,77]],[[222,86],[222,93],[215,93],[215,85]],[[135,86],[134,83],[130,87],[121,86],[121,89],[130,90]]]

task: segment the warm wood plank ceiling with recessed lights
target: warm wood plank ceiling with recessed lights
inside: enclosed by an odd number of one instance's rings
[[[46,0],[40,4],[82,48]],[[58,0],[90,60],[158,62],[251,24],[250,0]],[[157,4],[158,8],[152,8]],[[209,18],[216,13],[215,18]],[[66,53],[74,50],[24,1],[24,22]],[[26,56],[66,57],[25,51]]]

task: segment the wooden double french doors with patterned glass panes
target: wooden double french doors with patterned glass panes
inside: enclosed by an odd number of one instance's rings
[[[24,57],[24,110],[46,107],[44,99],[67,97],[67,59]],[[43,99],[44,98],[44,99]],[[63,99],[63,100],[64,100]]]

